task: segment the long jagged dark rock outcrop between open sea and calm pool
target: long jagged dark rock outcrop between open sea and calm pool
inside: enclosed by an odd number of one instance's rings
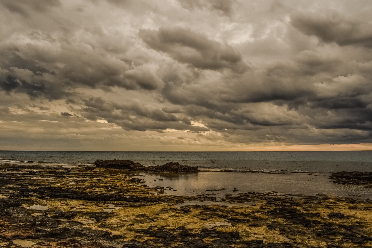
[[[164,165],[143,166],[132,160],[96,160],[94,162],[97,168],[127,169],[130,171],[142,172],[198,172],[198,167],[180,165],[180,163],[169,162]]]

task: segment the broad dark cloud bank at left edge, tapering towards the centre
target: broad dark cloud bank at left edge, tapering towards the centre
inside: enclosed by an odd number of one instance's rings
[[[42,41],[49,43],[44,38]],[[163,84],[150,68],[129,65],[94,52],[88,45],[78,49],[71,44],[58,50],[33,44],[7,46],[0,55],[0,89],[33,98],[60,99],[81,86],[154,90]]]

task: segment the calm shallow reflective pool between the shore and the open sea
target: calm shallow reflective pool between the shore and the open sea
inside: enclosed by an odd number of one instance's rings
[[[224,194],[278,192],[283,194],[334,195],[372,198],[372,188],[335,184],[330,174],[263,174],[239,172],[201,172],[199,174],[141,174],[149,187],[171,187],[166,194],[191,196],[200,193]],[[163,180],[161,180],[163,179]],[[234,190],[234,188],[236,190]]]

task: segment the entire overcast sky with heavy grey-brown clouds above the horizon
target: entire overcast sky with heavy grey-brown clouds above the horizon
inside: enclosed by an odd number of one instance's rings
[[[372,150],[370,0],[0,0],[0,150]]]

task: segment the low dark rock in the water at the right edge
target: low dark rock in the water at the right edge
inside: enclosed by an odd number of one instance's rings
[[[372,184],[372,172],[341,171],[332,173],[330,178],[339,184]]]

